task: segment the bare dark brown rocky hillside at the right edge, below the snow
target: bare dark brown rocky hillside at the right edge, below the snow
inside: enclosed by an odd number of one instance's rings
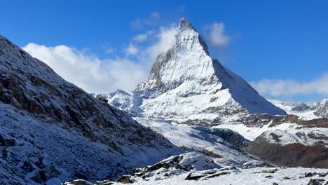
[[[295,143],[282,146],[260,136],[244,150],[276,165],[328,168],[328,148],[321,144],[305,146]]]

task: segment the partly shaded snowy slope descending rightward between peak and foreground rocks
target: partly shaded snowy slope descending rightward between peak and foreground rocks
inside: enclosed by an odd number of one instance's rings
[[[210,152],[214,153],[214,155],[220,156],[215,159],[220,165],[242,165],[251,160],[257,160],[254,156],[250,156],[248,153],[238,149],[238,147],[233,146],[233,142],[229,143],[227,140],[222,139],[222,133],[225,132],[224,129],[174,125],[153,118],[135,117],[134,119],[145,127],[149,127],[152,130],[159,132],[165,138],[170,140],[172,144],[175,144],[186,151],[199,151],[202,153]],[[234,143],[245,142],[245,144],[242,144],[245,146],[249,143],[241,136],[238,140],[239,141],[235,141]]]

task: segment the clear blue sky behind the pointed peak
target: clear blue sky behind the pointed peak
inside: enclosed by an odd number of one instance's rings
[[[0,34],[21,47],[29,43],[63,45],[89,63],[96,61],[103,66],[126,60],[139,68],[147,65],[147,71],[151,64],[142,63],[138,54],[126,53],[133,38],[149,31],[160,34],[185,17],[204,35],[212,57],[252,82],[265,97],[317,101],[328,97],[327,88],[322,89],[325,82],[328,86],[327,7],[325,1],[3,1]],[[204,28],[215,22],[224,24],[228,38],[224,46],[212,46],[205,36]],[[153,36],[133,46],[140,51],[157,41]],[[30,48],[29,53],[36,53],[36,49]],[[60,70],[55,68],[58,74]],[[137,80],[144,78],[144,74],[135,75]],[[71,78],[67,80],[74,83]],[[112,82],[111,77],[108,79],[104,83]],[[76,83],[84,88],[83,79]],[[114,86],[128,89],[129,85]],[[267,90],[276,86],[280,92]],[[295,92],[293,87],[297,88]]]

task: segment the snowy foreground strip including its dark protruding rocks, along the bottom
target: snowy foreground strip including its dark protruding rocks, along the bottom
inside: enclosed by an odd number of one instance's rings
[[[164,172],[163,172],[164,171]],[[130,177],[129,181],[122,181],[123,183],[132,184],[220,184],[220,185],[254,185],[254,184],[278,184],[278,185],[301,185],[309,184],[313,180],[320,184],[328,183],[328,170],[327,169],[315,169],[315,168],[303,168],[303,167],[254,167],[248,169],[242,168],[228,168],[210,169],[210,170],[191,170],[190,172],[180,172],[181,170],[173,170],[172,168],[163,169],[160,168],[154,172],[151,172],[151,177]],[[176,172],[177,174],[172,174]],[[165,175],[163,175],[165,174]],[[203,176],[205,177],[200,177]],[[198,179],[190,179],[190,177],[199,176]],[[97,181],[90,183],[83,180],[75,180],[64,183],[65,185],[73,185],[80,182],[81,184],[122,184],[117,181]],[[320,185],[319,184],[319,185]]]

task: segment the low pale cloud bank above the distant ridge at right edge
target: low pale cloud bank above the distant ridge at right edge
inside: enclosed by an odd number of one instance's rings
[[[262,79],[250,84],[261,94],[273,97],[292,95],[328,95],[328,73],[312,81],[295,81],[291,79]]]

